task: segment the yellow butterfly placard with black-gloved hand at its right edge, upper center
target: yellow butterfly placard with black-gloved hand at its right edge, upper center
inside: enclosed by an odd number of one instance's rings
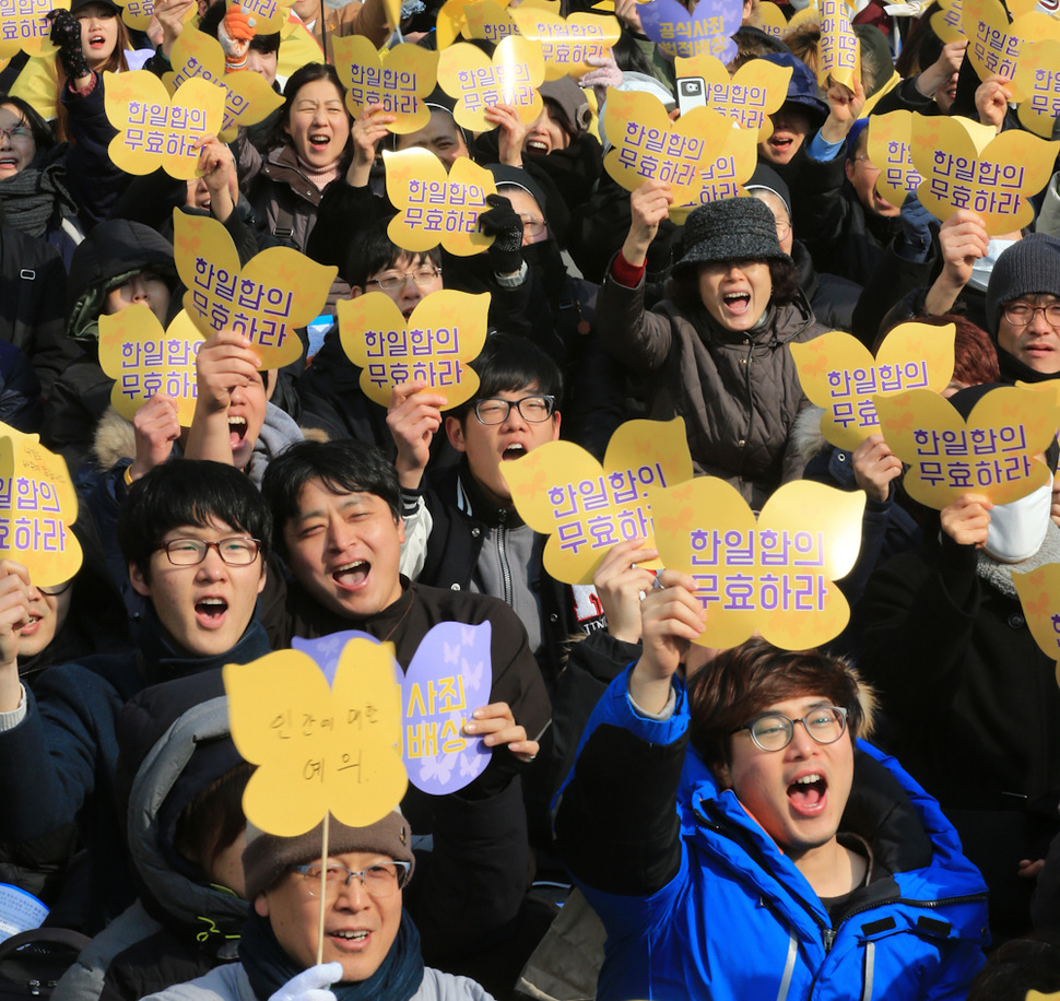
[[[399,210],[387,234],[402,250],[423,254],[441,244],[450,254],[469,257],[493,244],[479,232],[486,196],[496,195],[493,175],[460,156],[446,175],[445,164],[429,150],[385,152],[387,197]]]

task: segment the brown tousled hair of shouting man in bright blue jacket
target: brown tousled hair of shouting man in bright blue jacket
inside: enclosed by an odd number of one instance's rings
[[[846,708],[851,738],[872,730],[875,696],[846,660],[749,639],[723,650],[688,682],[688,739],[717,774],[729,764],[733,730],[774,703],[800,695],[824,695]]]

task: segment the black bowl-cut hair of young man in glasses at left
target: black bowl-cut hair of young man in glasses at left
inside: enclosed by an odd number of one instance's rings
[[[272,516],[257,487],[223,462],[172,459],[137,480],[118,515],[118,544],[130,566],[150,582],[151,554],[167,532],[185,525],[205,528],[223,521],[261,542],[261,563],[269,556]]]

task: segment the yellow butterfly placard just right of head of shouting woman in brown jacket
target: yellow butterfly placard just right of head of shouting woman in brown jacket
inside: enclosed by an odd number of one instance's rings
[[[437,52],[408,43],[380,52],[364,35],[334,35],[331,44],[354,118],[366,104],[381,104],[397,118],[388,128],[398,134],[415,132],[431,120],[424,98],[438,80]]]

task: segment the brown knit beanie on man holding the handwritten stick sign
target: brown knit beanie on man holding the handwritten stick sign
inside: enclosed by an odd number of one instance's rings
[[[320,858],[323,822],[297,837],[283,838],[266,834],[247,822],[247,847],[243,852],[246,898],[255,900],[292,865],[306,865]],[[348,851],[378,851],[396,862],[409,862],[409,879],[415,870],[412,853],[412,828],[401,811],[394,808],[381,821],[368,827],[348,827],[332,814],[328,825],[328,855]]]

